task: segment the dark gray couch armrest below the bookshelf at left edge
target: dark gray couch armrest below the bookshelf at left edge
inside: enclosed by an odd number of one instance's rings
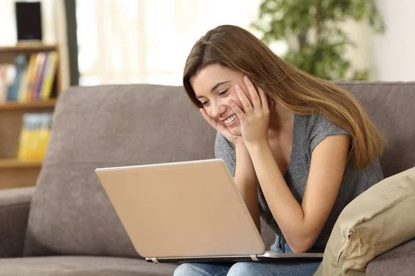
[[[0,258],[21,257],[35,187],[0,190]]]

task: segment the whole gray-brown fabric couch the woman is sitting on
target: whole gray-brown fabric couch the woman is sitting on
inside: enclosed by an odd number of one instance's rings
[[[338,84],[389,140],[385,177],[414,167],[415,83]],[[66,90],[36,188],[0,190],[0,275],[172,275],[176,264],[137,255],[94,169],[210,159],[214,137],[181,87]],[[275,236],[262,228],[270,246]],[[410,259],[414,240],[376,257],[367,275],[409,275]]]

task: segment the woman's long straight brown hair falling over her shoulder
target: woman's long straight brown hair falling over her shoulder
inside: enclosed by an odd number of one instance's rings
[[[190,78],[213,63],[248,75],[255,86],[291,112],[322,114],[347,130],[353,139],[350,157],[354,168],[366,168],[382,154],[382,137],[353,95],[286,63],[257,37],[237,26],[210,30],[196,41],[187,57],[183,86],[197,108],[201,108],[201,102],[195,97]]]

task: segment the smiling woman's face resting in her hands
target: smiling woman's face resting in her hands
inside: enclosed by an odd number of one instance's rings
[[[244,76],[242,72],[231,70],[219,64],[212,64],[190,78],[190,84],[196,98],[201,101],[208,115],[228,127],[232,135],[241,135],[241,124],[228,101],[232,99],[237,106],[243,108],[235,91],[237,84],[250,99],[243,82]]]

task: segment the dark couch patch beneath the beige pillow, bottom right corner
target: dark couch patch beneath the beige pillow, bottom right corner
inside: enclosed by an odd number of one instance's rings
[[[366,276],[413,276],[415,239],[383,253],[367,265]]]

